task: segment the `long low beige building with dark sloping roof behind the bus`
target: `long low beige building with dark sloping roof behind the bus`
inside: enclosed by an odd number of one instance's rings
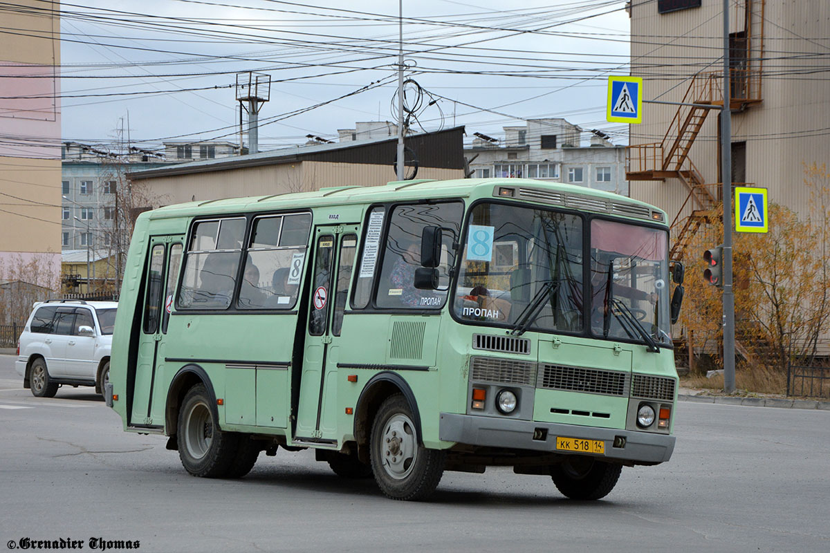
[[[413,134],[405,140],[409,178],[464,177],[464,128]],[[396,180],[397,138],[346,140],[208,159],[128,174],[154,206],[238,196],[310,192],[324,187],[379,186]]]

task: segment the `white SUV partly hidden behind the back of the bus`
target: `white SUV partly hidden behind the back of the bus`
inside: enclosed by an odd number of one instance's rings
[[[59,386],[95,386],[110,381],[110,349],[117,302],[51,299],[35,303],[17,340],[15,369],[23,387],[53,397]]]

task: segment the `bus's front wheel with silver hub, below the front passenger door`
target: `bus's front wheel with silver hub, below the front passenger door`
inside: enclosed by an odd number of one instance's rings
[[[383,401],[372,424],[372,472],[380,490],[392,499],[426,499],[444,473],[446,454],[418,445],[414,419],[407,400],[395,394]]]

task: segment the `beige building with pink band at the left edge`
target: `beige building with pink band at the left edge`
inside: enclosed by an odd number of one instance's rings
[[[61,270],[60,2],[2,10],[0,279],[56,288]],[[37,267],[32,273],[26,268]],[[25,271],[24,271],[25,269]]]

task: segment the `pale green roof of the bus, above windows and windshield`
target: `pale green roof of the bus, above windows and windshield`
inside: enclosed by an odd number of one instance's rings
[[[544,182],[523,178],[462,178],[451,181],[435,181],[431,179],[413,181],[393,181],[380,187],[364,186],[343,186],[320,188],[315,192],[293,192],[281,193],[271,196],[248,196],[239,198],[227,198],[222,200],[188,201],[186,203],[164,206],[154,211],[149,211],[146,216],[150,219],[166,219],[179,216],[200,216],[207,214],[220,214],[246,211],[272,211],[285,209],[300,209],[314,206],[332,206],[339,204],[374,203],[382,201],[412,201],[430,198],[450,198],[469,196],[492,196],[492,190],[496,186],[503,187],[528,187],[540,192],[559,193],[569,198],[596,198],[602,201],[603,206],[621,206],[618,215],[632,216],[625,211],[625,206],[632,208],[647,208],[646,216],[637,218],[649,218],[648,213],[662,213],[662,219],[657,222],[666,223],[666,213],[657,207],[643,201],[633,200],[626,196],[620,196],[613,192],[603,192],[591,188],[580,187],[572,184],[559,182]],[[534,201],[535,198],[523,196],[525,201]],[[538,200],[538,198],[537,198]],[[543,203],[549,201],[541,200]],[[605,209],[592,209],[590,202],[585,204],[579,200],[575,205],[578,209],[586,211],[607,211]]]

